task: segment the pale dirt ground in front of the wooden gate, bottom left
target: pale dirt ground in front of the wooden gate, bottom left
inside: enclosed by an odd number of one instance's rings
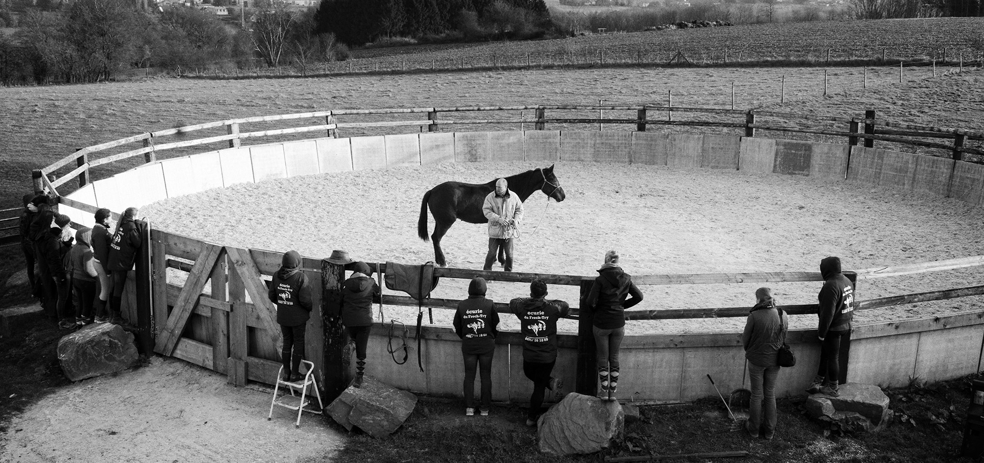
[[[38,401],[0,435],[0,461],[304,462],[343,445],[320,416],[300,429],[270,392],[175,359],[76,382]],[[327,405],[327,404],[326,404]]]

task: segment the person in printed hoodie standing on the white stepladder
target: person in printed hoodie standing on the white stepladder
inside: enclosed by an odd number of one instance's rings
[[[283,333],[280,380],[297,382],[304,358],[304,330],[311,318],[311,284],[301,271],[301,256],[296,251],[283,253],[280,268],[274,274],[267,296],[277,305],[277,323]],[[291,352],[292,350],[292,352]]]

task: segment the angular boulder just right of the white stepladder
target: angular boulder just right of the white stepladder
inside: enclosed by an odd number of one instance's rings
[[[410,392],[364,376],[362,387],[348,386],[326,411],[346,430],[358,427],[379,438],[395,433],[416,405],[417,396]]]

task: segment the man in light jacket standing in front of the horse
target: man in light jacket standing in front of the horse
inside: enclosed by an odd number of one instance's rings
[[[502,248],[506,255],[504,270],[513,271],[513,249],[517,227],[523,220],[523,201],[509,190],[506,179],[495,182],[495,191],[489,193],[482,203],[482,214],[489,220],[489,252],[485,255],[485,270],[492,269],[496,253]]]

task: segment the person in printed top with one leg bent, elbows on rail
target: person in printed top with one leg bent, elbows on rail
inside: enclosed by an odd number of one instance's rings
[[[546,389],[560,398],[564,381],[550,376],[557,363],[557,319],[567,317],[571,307],[559,299],[547,300],[547,284],[535,279],[529,283],[529,297],[516,298],[509,308],[520,318],[523,334],[523,375],[533,381],[529,395],[526,426],[536,426]]]

